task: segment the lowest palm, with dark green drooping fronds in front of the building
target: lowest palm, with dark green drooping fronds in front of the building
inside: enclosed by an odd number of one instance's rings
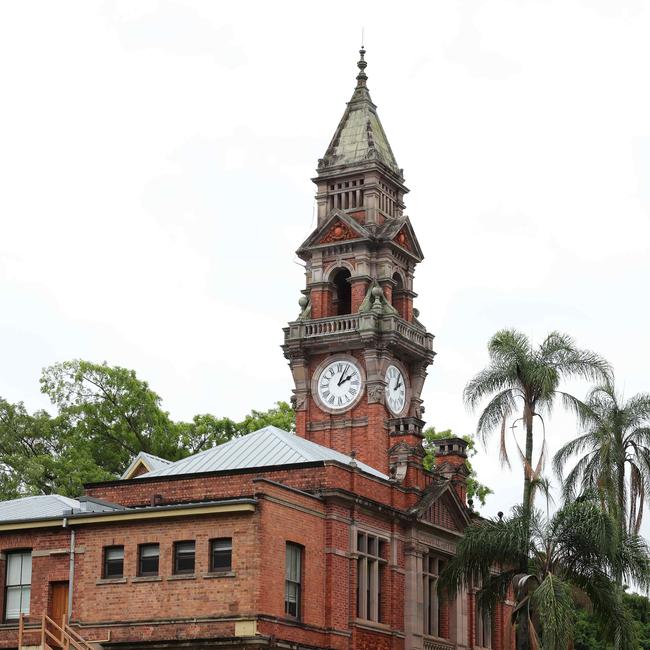
[[[475,521],[443,570],[440,589],[457,593],[479,585],[477,602],[487,613],[514,585],[513,617],[527,622],[518,630],[518,647],[570,647],[577,595],[591,602],[616,647],[637,647],[629,614],[611,576],[614,567],[621,566],[625,576],[647,587],[648,549],[634,536],[627,538],[622,553],[617,551],[612,543],[615,526],[598,499],[588,496],[565,504],[550,518],[517,506],[509,518]],[[522,555],[525,571],[512,563]],[[523,641],[522,629],[526,632]]]

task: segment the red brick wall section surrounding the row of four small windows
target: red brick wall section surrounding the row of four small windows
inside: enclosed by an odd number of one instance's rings
[[[72,620],[92,624],[252,614],[259,574],[254,519],[242,513],[78,527],[77,544],[85,552],[75,568]],[[233,577],[205,577],[209,541],[217,537],[232,537]],[[173,545],[185,540],[196,543],[195,577],[178,580],[173,576]],[[152,542],[160,544],[160,580],[140,582],[138,545]],[[125,583],[101,581],[103,548],[113,545],[124,546]]]

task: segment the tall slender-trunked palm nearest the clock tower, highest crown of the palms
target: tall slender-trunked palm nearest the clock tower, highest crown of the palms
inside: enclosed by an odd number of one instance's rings
[[[497,332],[488,343],[490,364],[465,387],[466,404],[475,409],[485,398],[490,401],[483,409],[477,431],[485,442],[501,426],[501,459],[508,462],[505,445],[506,424],[515,413],[513,423],[523,422],[526,432],[525,450],[519,452],[524,464],[523,514],[532,509],[532,482],[539,476],[543,464],[543,449],[533,470],[533,423],[536,417],[552,410],[559,398],[565,406],[580,408],[581,403],[569,393],[559,390],[560,381],[567,378],[606,379],[609,364],[599,355],[576,347],[566,334],[551,332],[541,345],[533,348],[528,337],[514,329]],[[542,420],[543,422],[543,420]],[[525,570],[522,558],[522,571]]]

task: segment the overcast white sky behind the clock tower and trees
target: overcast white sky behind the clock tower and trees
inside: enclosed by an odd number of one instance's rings
[[[572,334],[650,391],[650,3],[0,4],[0,395],[41,368],[134,368],[177,419],[288,399],[293,251],[349,99],[369,87],[426,255],[426,418],[470,432],[497,329]],[[584,387],[573,387],[583,394]],[[575,432],[548,426],[551,450]],[[520,498],[496,445],[476,460]]]

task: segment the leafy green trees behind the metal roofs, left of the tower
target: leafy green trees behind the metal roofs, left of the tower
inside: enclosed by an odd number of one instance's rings
[[[174,422],[133,370],[75,360],[45,368],[41,390],[58,414],[30,414],[0,398],[0,499],[76,496],[83,484],[122,474],[145,451],[169,460],[222,444],[268,424],[293,430],[293,409],[278,402],[241,422],[210,414]]]

